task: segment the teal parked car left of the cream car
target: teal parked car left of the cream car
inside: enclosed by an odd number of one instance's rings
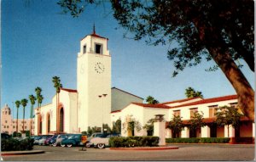
[[[83,146],[84,145],[83,138],[85,138],[86,140],[87,137],[82,134],[73,134],[70,137],[63,139],[61,141],[61,147],[67,146],[68,148],[70,148],[72,146]]]

